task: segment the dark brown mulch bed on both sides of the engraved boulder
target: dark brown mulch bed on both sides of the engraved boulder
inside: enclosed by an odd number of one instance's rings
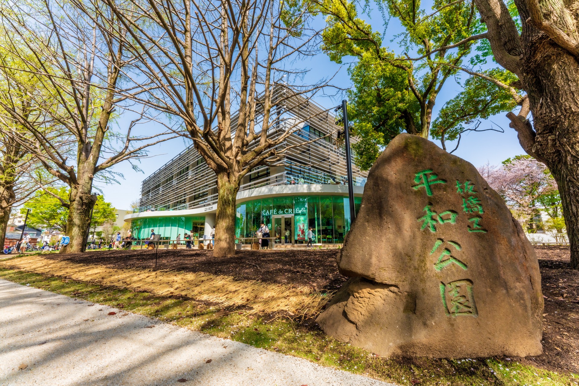
[[[545,296],[544,354],[520,360],[548,370],[579,373],[579,270],[571,270],[569,247],[537,246],[535,249]],[[201,271],[335,291],[346,281],[338,272],[337,254],[336,249],[244,250],[237,251],[233,258],[215,259],[212,251],[206,250],[160,250],[158,269]],[[155,266],[155,252],[141,249],[46,257],[116,268]]]

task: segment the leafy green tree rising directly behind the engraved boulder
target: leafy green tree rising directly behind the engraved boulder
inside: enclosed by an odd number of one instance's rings
[[[318,2],[318,10],[327,16],[328,25],[323,32],[322,49],[336,63],[342,63],[344,57],[355,58],[349,67],[353,88],[347,94],[353,134],[361,138],[353,146],[358,167],[362,170],[371,167],[380,149],[403,131],[424,138],[431,134],[436,139],[452,140],[459,138],[475,120],[514,108],[508,91],[472,76],[464,83],[464,91],[449,101],[436,119],[432,117],[442,86],[461,71],[464,58],[478,43],[470,41],[453,49],[444,47],[486,30],[474,3],[435,0],[434,12],[427,12],[420,1],[375,1],[387,13],[384,20],[398,19],[404,27],[405,31],[395,36],[404,55],[397,56],[383,46],[382,36],[358,17],[363,9],[357,3]],[[511,8],[516,10],[514,6]],[[485,40],[478,44],[482,48],[472,63],[484,63],[486,57],[492,56],[487,43]],[[505,84],[517,79],[499,68],[486,71],[485,75],[496,76]]]

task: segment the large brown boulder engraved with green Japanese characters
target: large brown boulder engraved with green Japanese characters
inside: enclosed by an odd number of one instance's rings
[[[467,161],[400,134],[368,176],[338,257],[350,279],[317,322],[376,354],[538,355],[537,257]]]

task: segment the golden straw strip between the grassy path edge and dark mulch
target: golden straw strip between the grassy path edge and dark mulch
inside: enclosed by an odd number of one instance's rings
[[[195,299],[248,313],[280,313],[314,317],[331,293],[303,285],[273,284],[258,280],[234,280],[231,276],[77,263],[51,256],[28,255],[10,259],[0,266],[76,281],[146,291],[159,296]]]

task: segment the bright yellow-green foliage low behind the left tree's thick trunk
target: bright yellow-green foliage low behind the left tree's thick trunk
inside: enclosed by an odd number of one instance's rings
[[[34,197],[20,209],[20,213],[26,214],[27,209],[31,209],[28,215],[28,224],[35,227],[53,228],[65,232],[67,228],[68,208],[64,207],[57,197],[60,197],[65,203],[68,203],[68,188],[61,186],[60,188],[46,188],[46,190],[52,194],[44,190],[38,190]],[[104,197],[98,196],[93,209],[93,219],[90,223],[91,227],[101,226],[105,222],[114,221],[115,214],[116,210],[112,207],[111,203],[105,202]]]

